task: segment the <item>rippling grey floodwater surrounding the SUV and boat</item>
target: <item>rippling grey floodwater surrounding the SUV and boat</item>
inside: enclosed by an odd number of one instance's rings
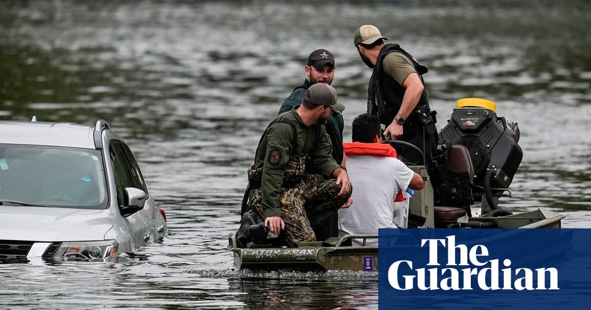
[[[119,263],[0,266],[9,308],[377,308],[372,273],[232,269],[246,168],[310,51],[335,54],[350,123],[375,24],[414,54],[441,128],[457,99],[518,122],[524,159],[501,204],[591,225],[588,1],[2,1],[0,119],[105,119],[139,159],[170,236]]]

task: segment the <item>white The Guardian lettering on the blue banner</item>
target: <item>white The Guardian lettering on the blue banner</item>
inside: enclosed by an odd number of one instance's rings
[[[438,255],[438,243],[446,249],[447,262],[444,266],[447,267],[441,267],[440,259],[443,260],[443,257]],[[388,282],[392,288],[401,291],[411,289],[460,291],[472,290],[473,286],[485,291],[559,289],[556,268],[514,270],[511,268],[510,259],[504,259],[502,263],[499,259],[487,260],[489,250],[482,244],[470,248],[465,244],[456,245],[456,236],[447,236],[445,239],[423,239],[421,247],[428,247],[427,266],[435,267],[413,269],[411,260],[398,260],[388,268]],[[456,257],[456,252],[459,252],[459,257]],[[501,277],[502,280],[500,280]],[[549,279],[548,286],[546,277]]]

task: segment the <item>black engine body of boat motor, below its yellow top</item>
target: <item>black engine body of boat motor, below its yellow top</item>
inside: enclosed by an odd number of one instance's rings
[[[439,139],[466,146],[475,169],[474,182],[478,185],[482,185],[487,168],[496,168],[498,185],[508,188],[523,158],[511,128],[489,109],[454,109]]]

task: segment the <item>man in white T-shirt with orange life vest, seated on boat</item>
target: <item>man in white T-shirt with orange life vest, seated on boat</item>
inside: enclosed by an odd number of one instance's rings
[[[423,178],[396,158],[391,145],[381,143],[377,116],[362,114],[355,118],[352,140],[343,146],[355,192],[352,207],[339,210],[340,236],[377,234],[380,228],[397,228],[395,223],[401,223],[401,219],[395,218],[394,201],[403,200],[402,191],[407,188],[421,190]],[[353,243],[361,245],[361,240],[355,239]]]

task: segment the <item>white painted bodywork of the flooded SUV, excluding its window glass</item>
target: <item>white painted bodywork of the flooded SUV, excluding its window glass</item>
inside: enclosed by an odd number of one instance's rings
[[[110,155],[115,144],[128,150],[123,139],[104,121],[97,122],[95,128],[74,123],[0,122],[0,145],[102,150],[108,193],[105,208],[101,209],[0,205],[0,243],[7,243],[7,240],[8,243],[33,242],[27,257],[35,257],[47,254],[51,245],[58,243],[115,240],[117,252],[132,252],[162,240],[167,234],[167,224],[147,188],[144,188],[145,198],[141,201],[143,206],[122,216]],[[135,159],[132,161],[135,163]],[[142,178],[141,172],[139,177]]]

